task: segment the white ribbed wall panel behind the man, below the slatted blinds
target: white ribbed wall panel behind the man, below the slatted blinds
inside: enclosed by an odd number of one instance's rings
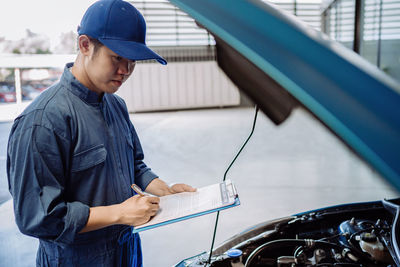
[[[129,112],[240,104],[238,89],[215,61],[137,64],[118,95]]]

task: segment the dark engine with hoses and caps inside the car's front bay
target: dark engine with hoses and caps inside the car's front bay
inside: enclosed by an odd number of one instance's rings
[[[243,266],[387,266],[393,264],[387,249],[387,221],[343,221],[325,237],[278,239],[254,249]],[[310,238],[313,237],[313,238]],[[320,237],[320,238],[318,238]]]

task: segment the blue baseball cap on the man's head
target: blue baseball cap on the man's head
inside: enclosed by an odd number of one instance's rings
[[[88,35],[130,60],[155,59],[163,65],[167,61],[146,45],[146,22],[142,14],[130,3],[122,0],[100,0],[92,4],[78,34]]]

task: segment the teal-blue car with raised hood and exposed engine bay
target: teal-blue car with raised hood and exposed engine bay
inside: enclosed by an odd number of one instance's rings
[[[308,110],[400,190],[400,85],[261,1],[170,0],[216,40],[221,69],[277,125]],[[400,266],[400,199],[261,223],[177,266]]]

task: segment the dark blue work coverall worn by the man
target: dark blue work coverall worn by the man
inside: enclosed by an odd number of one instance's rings
[[[157,177],[124,101],[82,85],[67,64],[60,81],[16,118],[7,152],[16,223],[40,239],[39,266],[141,266],[128,226],[79,232],[89,207],[121,203]],[[132,264],[133,263],[133,264]]]

